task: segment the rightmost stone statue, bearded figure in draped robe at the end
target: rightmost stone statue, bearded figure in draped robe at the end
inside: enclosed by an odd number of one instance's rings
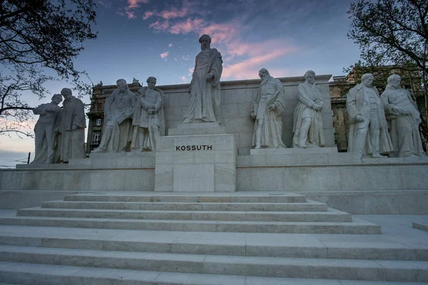
[[[387,120],[391,122],[390,135],[394,145],[394,156],[426,156],[419,135],[420,113],[409,91],[400,87],[401,78],[389,76],[387,88],[380,100]]]

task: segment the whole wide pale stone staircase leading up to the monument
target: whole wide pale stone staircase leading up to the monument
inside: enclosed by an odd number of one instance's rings
[[[9,284],[428,282],[428,247],[288,192],[68,195],[0,224]]]

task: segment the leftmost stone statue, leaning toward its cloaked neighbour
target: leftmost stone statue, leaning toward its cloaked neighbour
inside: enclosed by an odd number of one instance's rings
[[[36,154],[31,163],[54,163],[55,148],[57,146],[57,135],[60,123],[61,94],[52,96],[51,103],[41,104],[33,109],[34,115],[39,115],[34,128]]]

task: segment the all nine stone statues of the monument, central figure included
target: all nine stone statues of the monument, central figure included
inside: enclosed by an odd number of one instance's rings
[[[183,124],[220,123],[220,77],[223,71],[221,54],[210,47],[211,38],[199,38],[200,53],[195,58],[190,100]],[[253,147],[285,148],[282,142],[282,113],[286,108],[285,88],[270,76],[267,69],[259,71],[262,80],[250,109],[255,120]],[[298,103],[292,124],[292,147],[324,147],[322,127],[324,100],[315,84],[315,72],[305,73],[305,82],[297,87]],[[372,86],[374,76],[365,74],[362,83],[350,89],[347,111],[350,118],[348,152],[361,157],[425,156],[419,135],[420,114],[409,92],[400,87],[401,78],[392,75],[381,96]],[[156,78],[147,79],[147,86],[135,95],[124,79],[116,81],[117,89],[104,105],[104,130],[101,143],[93,152],[156,151],[158,138],[165,135],[164,95],[156,88]],[[134,78],[133,84],[138,83]],[[102,83],[96,87],[101,87]],[[62,97],[63,108],[59,108]],[[68,162],[84,158],[83,103],[63,88],[51,103],[34,109],[40,115],[36,133],[36,157],[33,163]],[[389,120],[390,133],[388,131]]]

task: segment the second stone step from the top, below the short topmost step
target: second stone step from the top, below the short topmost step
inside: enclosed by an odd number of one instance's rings
[[[308,201],[304,203],[233,203],[233,202],[80,202],[49,201],[42,208],[68,209],[139,209],[173,211],[283,211],[325,212],[327,204]]]

